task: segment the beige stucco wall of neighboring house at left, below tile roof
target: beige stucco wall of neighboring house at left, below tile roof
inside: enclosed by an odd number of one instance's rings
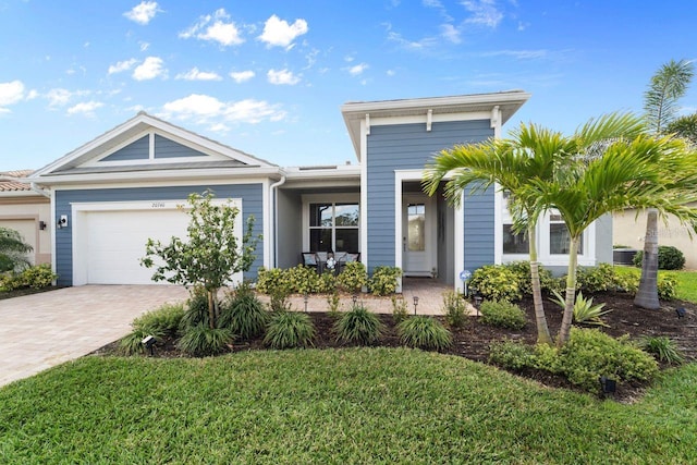
[[[44,221],[46,229],[40,230]],[[42,196],[0,197],[0,227],[19,231],[34,247],[30,259],[34,264],[51,262],[51,206]]]

